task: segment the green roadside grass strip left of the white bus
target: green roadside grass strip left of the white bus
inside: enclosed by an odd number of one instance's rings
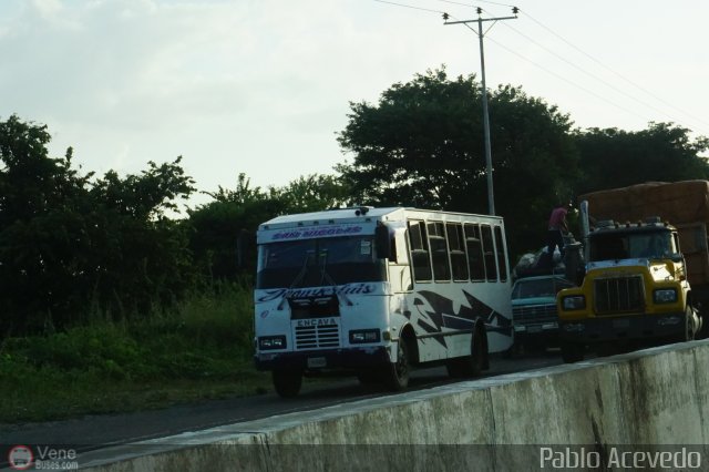
[[[0,341],[0,422],[49,421],[265,393],[253,298],[215,284],[172,314]]]

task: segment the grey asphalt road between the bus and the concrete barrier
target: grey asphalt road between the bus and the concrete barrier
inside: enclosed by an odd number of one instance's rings
[[[558,351],[493,358],[482,378],[541,369],[562,363]],[[413,372],[409,390],[451,383],[444,368]],[[111,444],[131,443],[223,424],[267,418],[294,411],[315,410],[354,400],[394,394],[361,386],[356,379],[331,382],[304,382],[300,396],[284,400],[276,393],[184,404],[163,410],[127,414],[88,415],[72,420],[27,424],[0,424],[0,444],[72,445],[92,450]],[[4,458],[2,458],[4,459]],[[0,468],[4,464],[0,463]]]

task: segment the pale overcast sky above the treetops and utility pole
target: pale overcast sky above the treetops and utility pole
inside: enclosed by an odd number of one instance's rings
[[[709,135],[699,0],[0,0],[0,120],[47,124],[52,155],[73,146],[85,171],[182,155],[202,191],[242,172],[281,186],[348,158],[336,137],[350,101],[442,64],[480,76],[477,37],[440,12],[512,4],[517,19],[486,23],[489,88],[521,85],[582,129]]]

